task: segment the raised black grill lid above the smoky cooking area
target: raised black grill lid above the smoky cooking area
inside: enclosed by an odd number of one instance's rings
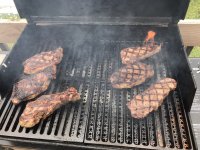
[[[115,21],[124,18],[134,22],[135,18],[163,20],[166,22],[183,19],[189,0],[14,0],[19,15],[29,21],[45,19],[102,18]],[[148,17],[148,18],[147,18]],[[146,18],[146,19],[145,19]],[[136,20],[137,20],[136,19]],[[92,20],[93,21],[93,20]],[[140,20],[142,21],[142,20]]]

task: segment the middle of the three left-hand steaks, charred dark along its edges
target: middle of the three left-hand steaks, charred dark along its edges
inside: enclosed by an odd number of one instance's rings
[[[27,101],[35,98],[40,93],[46,91],[51,79],[56,78],[56,66],[50,66],[45,70],[25,76],[13,86],[11,101],[13,104],[19,104],[21,101]]]

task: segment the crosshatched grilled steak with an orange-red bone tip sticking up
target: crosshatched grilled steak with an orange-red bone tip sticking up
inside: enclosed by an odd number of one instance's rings
[[[133,64],[158,53],[161,45],[154,43],[154,36],[155,32],[149,31],[143,46],[122,49],[120,52],[122,64]],[[151,42],[148,43],[150,40]]]

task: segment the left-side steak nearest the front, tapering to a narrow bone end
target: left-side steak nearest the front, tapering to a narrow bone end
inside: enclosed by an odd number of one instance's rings
[[[62,93],[43,95],[26,105],[24,112],[19,118],[19,124],[26,128],[33,127],[41,119],[47,118],[62,105],[79,99],[80,95],[73,87]]]

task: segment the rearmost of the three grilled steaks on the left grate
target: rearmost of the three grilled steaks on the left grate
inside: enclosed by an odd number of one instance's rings
[[[53,51],[36,54],[23,63],[24,73],[34,74],[49,66],[57,65],[61,62],[62,57],[63,49],[60,47]]]

